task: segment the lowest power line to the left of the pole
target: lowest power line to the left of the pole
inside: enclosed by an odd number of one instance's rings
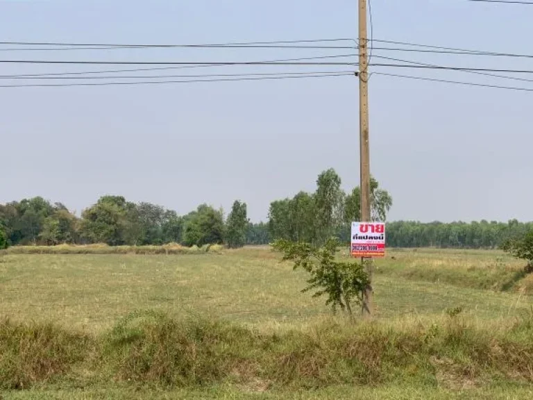
[[[353,76],[354,73],[339,74],[309,74],[303,76],[261,76],[257,78],[217,78],[217,79],[190,79],[183,81],[137,81],[137,82],[99,82],[99,83],[35,83],[22,85],[0,85],[0,88],[60,88],[71,86],[112,86],[112,85],[164,85],[178,83],[208,83],[208,82],[236,82],[236,81],[265,81],[278,79],[300,79],[300,78],[326,78],[335,76]]]

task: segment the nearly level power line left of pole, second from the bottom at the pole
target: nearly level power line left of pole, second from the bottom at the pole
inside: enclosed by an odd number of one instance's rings
[[[355,74],[354,71],[314,71],[314,72],[266,72],[266,73],[253,73],[253,74],[200,74],[200,75],[137,75],[137,76],[49,76],[46,78],[40,77],[40,76],[31,76],[31,77],[25,77],[25,76],[11,76],[10,79],[39,79],[39,80],[45,80],[45,79],[53,79],[53,80],[71,80],[71,79],[161,79],[161,78],[222,78],[222,77],[237,77],[237,76],[300,76],[300,75],[328,75],[328,74]],[[0,78],[7,78],[2,77]]]

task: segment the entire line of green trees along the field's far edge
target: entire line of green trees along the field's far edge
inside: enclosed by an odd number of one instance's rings
[[[329,238],[349,242],[350,225],[360,219],[361,192],[341,188],[334,169],[319,174],[314,192],[272,201],[267,222],[252,223],[246,203],[235,201],[223,210],[201,204],[187,215],[151,203],[132,203],[121,196],[104,196],[81,213],[42,197],[0,204],[0,248],[17,244],[90,244],[112,246],[179,243],[184,246],[269,244],[275,240],[324,244]],[[385,221],[392,197],[371,179],[371,215]],[[390,222],[389,247],[493,249],[533,231],[533,223]]]

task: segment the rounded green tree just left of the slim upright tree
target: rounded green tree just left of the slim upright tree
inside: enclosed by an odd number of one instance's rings
[[[204,244],[221,244],[224,238],[224,220],[221,210],[215,210],[207,204],[198,206],[196,211],[185,216],[183,244],[185,246],[203,246]]]

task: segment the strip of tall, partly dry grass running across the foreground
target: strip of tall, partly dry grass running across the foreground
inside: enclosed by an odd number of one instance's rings
[[[90,374],[99,383],[300,390],[410,384],[451,389],[533,383],[533,318],[509,326],[434,320],[341,319],[260,333],[208,319],[133,313],[97,338],[49,324],[0,325],[0,387],[22,389]]]

